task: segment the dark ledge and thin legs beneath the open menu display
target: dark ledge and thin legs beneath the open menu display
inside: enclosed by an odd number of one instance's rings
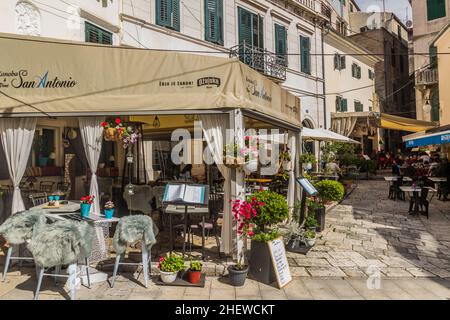
[[[186,253],[186,233],[188,228],[188,220],[191,214],[202,216],[202,259],[205,259],[205,216],[209,215],[208,207],[195,207],[195,206],[184,206],[184,205],[173,205],[169,204],[165,208],[166,214],[169,215],[169,239],[170,239],[170,252],[173,251],[173,231],[172,231],[172,216],[182,215],[183,216],[183,256]],[[187,214],[187,216],[186,216]]]

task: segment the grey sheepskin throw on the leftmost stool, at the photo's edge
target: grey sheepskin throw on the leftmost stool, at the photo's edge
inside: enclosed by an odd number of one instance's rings
[[[0,226],[2,235],[11,244],[22,244],[45,227],[47,218],[42,210],[28,210],[10,216]]]

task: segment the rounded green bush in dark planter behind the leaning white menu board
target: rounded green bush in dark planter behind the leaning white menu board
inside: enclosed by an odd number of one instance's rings
[[[280,223],[289,217],[288,204],[282,195],[273,191],[258,191],[251,197],[264,203],[257,208],[256,217],[253,219],[261,231],[264,231],[264,227]]]

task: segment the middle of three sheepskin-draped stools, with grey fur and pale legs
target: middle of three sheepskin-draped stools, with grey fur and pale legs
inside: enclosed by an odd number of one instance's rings
[[[60,220],[48,224],[45,229],[35,235],[28,245],[38,267],[38,284],[34,299],[37,300],[44,276],[69,278],[70,297],[75,300],[76,280],[81,270],[78,261],[85,262],[88,287],[90,287],[88,257],[92,250],[94,228],[86,222]],[[60,270],[68,266],[69,275],[45,273],[45,270],[55,267]]]

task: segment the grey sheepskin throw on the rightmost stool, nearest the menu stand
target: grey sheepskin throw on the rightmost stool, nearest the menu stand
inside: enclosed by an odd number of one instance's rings
[[[127,245],[142,240],[148,250],[156,243],[158,228],[152,218],[144,215],[126,216],[117,224],[113,247],[117,254],[127,250]]]

